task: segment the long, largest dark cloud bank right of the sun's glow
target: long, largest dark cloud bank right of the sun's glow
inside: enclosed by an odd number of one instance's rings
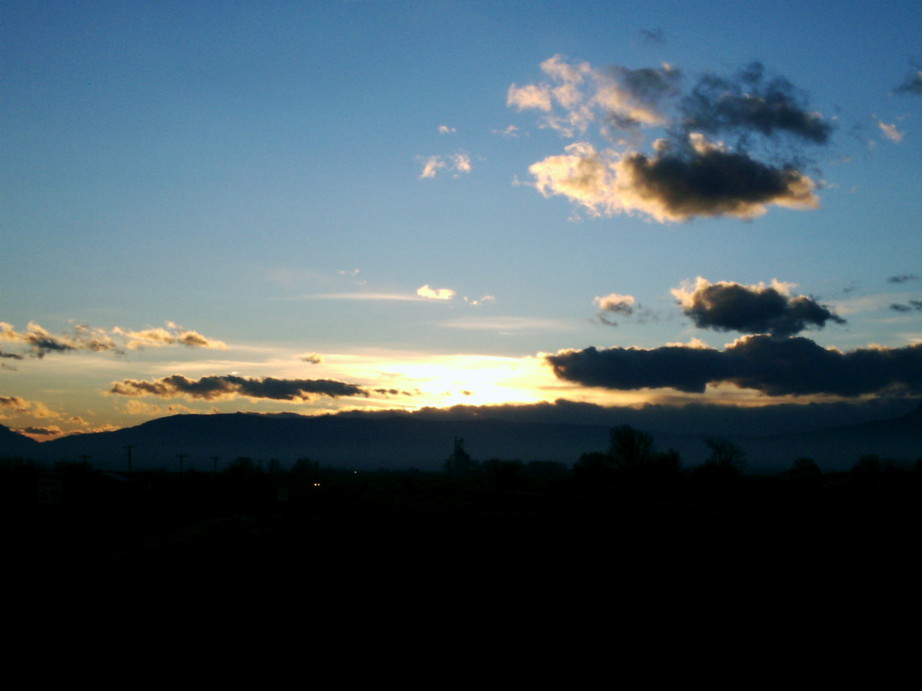
[[[665,346],[561,351],[547,356],[560,379],[616,390],[673,388],[703,393],[732,383],[771,396],[922,393],[922,344],[843,353],[794,337],[746,336],[723,351]]]

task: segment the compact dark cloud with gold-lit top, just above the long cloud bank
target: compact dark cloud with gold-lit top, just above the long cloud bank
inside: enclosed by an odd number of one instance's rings
[[[793,336],[811,326],[823,328],[828,321],[845,323],[813,298],[791,296],[788,287],[777,282],[746,286],[710,283],[699,277],[693,287],[684,286],[672,294],[701,329]]]

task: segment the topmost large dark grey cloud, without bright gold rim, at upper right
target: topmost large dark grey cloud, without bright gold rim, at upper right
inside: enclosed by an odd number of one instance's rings
[[[701,77],[679,105],[687,132],[735,134],[745,145],[751,133],[766,137],[791,135],[825,144],[832,125],[810,111],[806,97],[784,77],[767,77],[759,62],[729,78]]]

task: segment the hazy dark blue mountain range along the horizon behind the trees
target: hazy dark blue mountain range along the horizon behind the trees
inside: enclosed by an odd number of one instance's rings
[[[599,419],[579,424],[450,414],[175,415],[113,432],[78,434],[44,443],[0,425],[0,457],[76,462],[88,456],[95,468],[121,470],[127,468],[131,447],[134,469],[176,469],[182,454],[186,469],[199,470],[210,470],[215,457],[220,459],[219,467],[248,457],[254,461],[277,459],[285,464],[309,458],[338,467],[436,470],[452,453],[454,438],[460,437],[475,460],[570,464],[586,451],[605,450],[613,425],[632,424],[650,432],[658,449],[678,450],[685,465],[706,459],[707,436],[721,436],[739,444],[751,471],[782,470],[800,457],[813,458],[827,470],[846,470],[864,454],[902,461],[922,458],[922,408],[885,420],[775,434],[747,434],[739,426],[691,430],[680,422],[669,425],[662,409],[657,415],[648,416],[655,426],[644,425],[643,417],[627,413],[623,422],[613,418],[605,424]]]

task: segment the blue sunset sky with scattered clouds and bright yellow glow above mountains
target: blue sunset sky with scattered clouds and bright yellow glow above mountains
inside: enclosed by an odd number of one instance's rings
[[[0,7],[0,424],[922,394],[922,5]]]

